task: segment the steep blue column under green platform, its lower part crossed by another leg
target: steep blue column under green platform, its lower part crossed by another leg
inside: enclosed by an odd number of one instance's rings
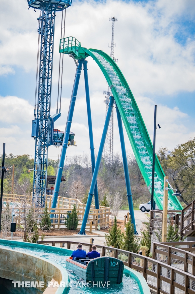
[[[93,129],[92,129],[92,120],[91,120],[91,107],[90,107],[89,83],[88,83],[87,61],[86,60],[83,62],[83,71],[84,71],[84,78],[85,78],[85,93],[86,93],[87,116],[88,116],[88,126],[89,126],[91,166],[92,166],[92,175],[93,175],[94,168],[95,168],[95,153],[94,153],[94,145],[93,145]],[[94,198],[95,198],[95,209],[99,209],[97,181],[95,183]]]

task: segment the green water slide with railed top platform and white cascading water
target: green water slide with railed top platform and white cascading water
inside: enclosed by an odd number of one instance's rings
[[[102,70],[122,116],[136,161],[151,193],[153,145],[135,98],[119,67],[105,52],[81,47],[81,43],[74,37],[61,39],[59,52],[72,54],[75,59],[91,56]],[[165,173],[156,156],[154,200],[159,209],[163,209],[164,176]],[[172,196],[172,193],[173,191],[169,190],[168,209],[182,210],[182,205],[176,196]]]

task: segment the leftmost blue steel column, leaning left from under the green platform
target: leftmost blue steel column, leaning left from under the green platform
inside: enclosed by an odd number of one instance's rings
[[[78,61],[78,67],[76,70],[76,76],[75,76],[75,81],[74,81],[74,86],[73,86],[73,91],[72,91],[69,113],[68,113],[67,122],[66,122],[64,141],[62,143],[62,148],[61,148],[61,154],[60,154],[60,160],[59,160],[59,165],[58,165],[58,170],[57,170],[57,175],[56,175],[56,182],[55,182],[55,186],[54,186],[54,193],[53,193],[53,197],[52,197],[51,208],[56,208],[56,203],[57,203],[57,199],[58,199],[59,187],[60,187],[61,176],[62,176],[63,167],[64,167],[64,159],[66,156],[66,150],[68,147],[70,128],[71,128],[74,106],[75,106],[75,101],[76,101],[76,95],[77,95],[77,90],[78,90],[78,83],[79,83],[80,76],[81,76],[82,64],[83,64],[83,59]]]

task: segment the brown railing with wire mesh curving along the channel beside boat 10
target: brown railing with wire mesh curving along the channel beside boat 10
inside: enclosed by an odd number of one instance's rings
[[[52,245],[76,250],[78,242],[72,241],[37,241],[39,244]],[[91,251],[93,244],[82,243],[83,250]],[[159,260],[117,248],[96,245],[101,256],[115,257],[141,273],[148,286],[157,294],[195,294],[195,276]],[[182,252],[184,253],[184,251]]]

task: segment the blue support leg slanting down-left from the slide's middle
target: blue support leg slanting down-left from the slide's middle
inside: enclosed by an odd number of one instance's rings
[[[111,114],[112,114],[113,104],[114,104],[114,97],[110,96],[110,103],[108,105],[108,112],[107,112],[105,125],[104,125],[104,129],[103,129],[103,133],[102,133],[102,138],[101,138],[101,142],[100,142],[100,148],[99,148],[99,151],[98,151],[98,157],[97,157],[97,160],[96,160],[96,163],[95,163],[95,169],[94,169],[94,172],[93,172],[93,178],[92,178],[92,181],[91,181],[91,186],[90,186],[90,190],[89,190],[89,196],[88,196],[88,199],[87,199],[87,205],[86,205],[85,213],[84,213],[84,216],[83,216],[83,222],[82,222],[82,225],[81,225],[81,230],[78,233],[78,234],[81,234],[81,235],[85,235],[85,227],[86,227],[86,224],[87,224],[87,219],[88,219],[88,215],[89,215],[91,201],[92,201],[92,198],[93,198],[93,193],[94,193],[94,189],[95,189],[95,183],[96,183],[97,177],[98,177],[98,171],[99,171],[99,168],[100,168],[100,162],[101,162],[101,159],[102,159],[102,153],[103,153],[103,148],[104,148],[104,144],[105,144],[105,140],[106,140],[106,134],[107,134],[107,131],[108,131],[110,117],[111,117]]]

